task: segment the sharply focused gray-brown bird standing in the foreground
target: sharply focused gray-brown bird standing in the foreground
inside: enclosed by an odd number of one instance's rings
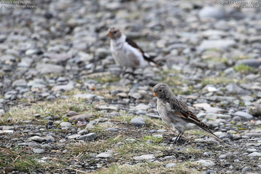
[[[212,133],[214,129],[202,123],[188,109],[188,106],[173,94],[167,84],[159,83],[155,85],[152,92],[153,97],[157,97],[157,110],[161,119],[178,133],[174,143],[179,142],[186,130],[199,128],[223,142]]]

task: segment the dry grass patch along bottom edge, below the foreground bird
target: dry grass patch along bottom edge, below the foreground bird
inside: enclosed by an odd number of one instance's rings
[[[166,163],[142,163],[136,165],[119,165],[113,164],[108,168],[101,169],[97,172],[97,174],[102,173],[114,173],[114,174],[167,174],[167,173],[174,173],[174,174],[199,174],[197,166],[199,165],[196,162],[186,162],[186,163],[177,163],[175,167],[171,167],[170,169],[165,167]]]

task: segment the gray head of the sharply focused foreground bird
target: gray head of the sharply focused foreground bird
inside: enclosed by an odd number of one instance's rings
[[[153,97],[158,98],[174,95],[169,86],[165,83],[159,83],[158,85],[155,85],[152,89],[152,92]]]

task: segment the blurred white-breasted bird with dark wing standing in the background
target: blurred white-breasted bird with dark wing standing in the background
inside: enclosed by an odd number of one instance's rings
[[[157,65],[149,54],[144,52],[134,41],[127,38],[118,28],[108,29],[110,37],[111,54],[115,62],[124,69],[145,68],[149,65]]]

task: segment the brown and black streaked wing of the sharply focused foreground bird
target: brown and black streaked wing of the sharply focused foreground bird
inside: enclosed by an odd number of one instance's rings
[[[173,114],[182,118],[183,120],[193,123],[198,127],[214,130],[213,128],[209,127],[208,125],[202,123],[190,110],[188,110],[188,106],[183,103],[181,100],[179,102],[173,101],[169,99],[169,102],[173,109]]]

